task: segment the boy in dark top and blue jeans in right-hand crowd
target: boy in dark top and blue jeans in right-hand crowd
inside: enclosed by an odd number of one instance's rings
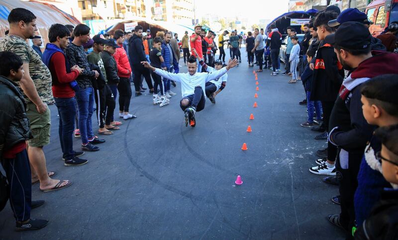
[[[297,44],[298,45],[298,44]],[[296,46],[296,45],[295,45]],[[305,93],[307,96],[307,110],[308,110],[308,120],[301,123],[301,127],[310,128],[314,124],[319,124],[322,121],[322,104],[320,101],[310,101],[309,96],[311,95],[311,84],[312,84],[312,74],[313,71],[309,68],[309,63],[315,55],[314,50],[308,50],[307,53],[307,65],[301,74],[301,80],[304,84]],[[316,121],[314,121],[314,108],[316,112]]]

